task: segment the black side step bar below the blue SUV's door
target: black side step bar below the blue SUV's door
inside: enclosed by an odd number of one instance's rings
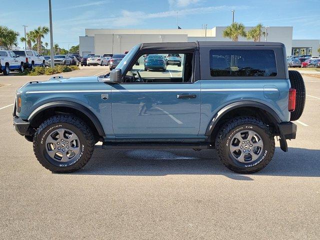
[[[206,142],[103,142],[101,147],[103,149],[214,148]]]

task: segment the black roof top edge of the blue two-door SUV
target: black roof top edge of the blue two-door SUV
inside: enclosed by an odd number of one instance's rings
[[[284,44],[268,41],[150,42],[141,43],[140,50],[194,50],[199,46],[284,46]]]

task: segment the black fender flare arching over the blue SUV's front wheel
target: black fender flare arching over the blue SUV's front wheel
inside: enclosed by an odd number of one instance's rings
[[[76,110],[81,111],[83,114],[85,114],[92,121],[98,134],[100,136],[105,136],[103,127],[102,127],[100,121],[98,120],[98,118],[96,117],[96,115],[91,110],[89,110],[87,107],[85,107],[79,103],[72,102],[72,101],[51,101],[51,102],[45,103],[32,111],[32,113],[28,117],[28,122],[31,122],[32,119],[41,111],[48,109],[48,108],[51,108],[51,107],[56,107],[56,106],[65,106],[65,107],[70,107],[70,108],[74,108]]]

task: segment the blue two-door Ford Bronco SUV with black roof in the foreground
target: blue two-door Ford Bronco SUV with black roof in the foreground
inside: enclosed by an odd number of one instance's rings
[[[181,64],[145,70],[149,54],[179,54]],[[102,141],[105,149],[215,148],[226,167],[252,173],[271,160],[275,136],[287,151],[304,102],[282,43],[141,43],[106,75],[25,83],[13,124],[53,172],[80,169]]]

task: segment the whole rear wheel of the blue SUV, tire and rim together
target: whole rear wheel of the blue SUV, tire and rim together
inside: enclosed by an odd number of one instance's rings
[[[253,173],[261,170],[272,159],[274,136],[261,120],[240,116],[220,128],[215,148],[217,156],[230,170]]]

